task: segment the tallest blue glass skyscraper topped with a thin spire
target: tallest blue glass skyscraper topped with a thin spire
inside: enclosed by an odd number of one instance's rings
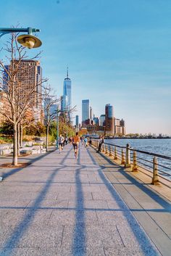
[[[63,96],[67,96],[67,110],[70,111],[72,109],[72,86],[71,86],[71,80],[68,77],[68,67],[67,67],[67,78],[64,78]],[[69,118],[70,118],[70,123],[72,123],[72,113],[70,113]]]

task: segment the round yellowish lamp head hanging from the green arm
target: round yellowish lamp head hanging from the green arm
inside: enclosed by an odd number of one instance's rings
[[[20,35],[17,37],[17,41],[22,46],[28,47],[28,49],[37,48],[41,46],[41,40],[39,40],[36,36],[32,35]]]

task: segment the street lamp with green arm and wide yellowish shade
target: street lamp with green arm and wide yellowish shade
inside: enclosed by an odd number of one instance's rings
[[[28,32],[28,34],[17,36],[17,41],[22,46],[27,47],[28,49],[37,48],[41,46],[41,40],[36,36],[33,36],[32,33],[40,32],[40,29],[37,28],[0,28],[0,38],[7,33],[20,33]]]

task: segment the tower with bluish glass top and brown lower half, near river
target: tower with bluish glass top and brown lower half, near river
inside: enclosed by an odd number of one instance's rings
[[[114,110],[111,104],[105,106],[105,131],[111,135],[114,134]]]

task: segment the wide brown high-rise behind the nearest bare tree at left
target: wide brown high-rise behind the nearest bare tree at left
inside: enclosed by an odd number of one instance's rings
[[[41,121],[41,113],[42,113],[42,69],[40,66],[39,61],[35,60],[14,60],[13,64],[6,65],[6,70],[11,70],[12,65],[17,66],[18,65],[18,72],[15,75],[14,82],[18,86],[18,90],[20,91],[20,94],[18,94],[18,102],[20,104],[25,104],[26,101],[28,101],[28,97],[31,98],[30,105],[33,108],[33,110],[36,111],[36,121]],[[4,91],[8,87],[8,74],[4,70],[3,73],[3,87]],[[33,91],[33,92],[32,92]],[[38,115],[37,113],[40,113]]]

